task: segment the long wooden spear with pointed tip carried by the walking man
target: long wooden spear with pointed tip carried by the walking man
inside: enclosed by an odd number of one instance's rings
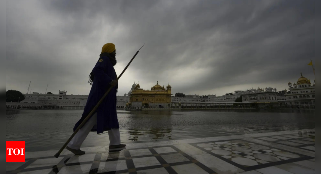
[[[145,45],[145,44],[144,44]],[[143,46],[144,46],[143,45]],[[140,48],[142,49],[143,46]],[[140,50],[139,49],[139,50]],[[120,77],[124,74],[124,72],[126,71],[126,69],[128,68],[128,66],[130,65],[130,63],[134,60],[134,58],[136,57],[136,55],[138,54],[139,50],[136,52],[136,54],[134,55],[134,57],[132,58],[132,60],[130,60],[130,62],[127,64],[126,68],[123,70],[123,72],[119,75],[119,77],[117,78],[120,79]],[[91,112],[87,115],[87,117],[82,121],[82,123],[78,126],[78,128],[74,131],[74,133],[70,136],[70,138],[67,140],[67,142],[60,148],[60,150],[55,154],[55,157],[58,158],[60,153],[65,149],[65,147],[68,145],[68,143],[73,139],[73,137],[76,135],[76,133],[79,131],[79,129],[82,128],[82,126],[87,122],[87,120],[91,117],[91,115],[96,111],[96,109],[98,108],[98,106],[101,104],[101,102],[105,99],[105,97],[107,96],[107,94],[109,93],[109,91],[112,89],[113,87],[109,87],[109,89],[106,91],[106,93],[101,97],[101,99],[99,100],[99,102],[96,104],[96,106],[91,110]]]

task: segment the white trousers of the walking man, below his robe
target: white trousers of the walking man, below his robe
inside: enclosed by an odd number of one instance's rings
[[[80,149],[82,142],[86,139],[91,129],[97,124],[97,113],[95,113],[85,125],[76,133],[76,135],[71,139],[68,147],[72,149]],[[120,133],[119,129],[108,130],[109,145],[120,145]]]

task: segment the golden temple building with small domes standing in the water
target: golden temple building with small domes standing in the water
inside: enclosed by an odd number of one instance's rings
[[[170,107],[171,95],[171,86],[169,84],[165,89],[157,81],[157,84],[151,90],[141,89],[140,85],[137,84],[130,95],[128,106]]]

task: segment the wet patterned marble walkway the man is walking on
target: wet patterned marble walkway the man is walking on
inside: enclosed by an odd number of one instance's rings
[[[298,132],[302,132],[299,134]],[[7,174],[314,174],[315,129],[27,152],[25,163],[6,163]]]

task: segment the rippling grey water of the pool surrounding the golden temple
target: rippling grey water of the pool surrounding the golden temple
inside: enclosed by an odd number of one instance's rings
[[[6,141],[25,141],[30,152],[59,149],[82,112],[6,112]],[[121,111],[117,115],[124,144],[315,128],[315,110]],[[108,144],[108,132],[91,132],[82,147]]]

